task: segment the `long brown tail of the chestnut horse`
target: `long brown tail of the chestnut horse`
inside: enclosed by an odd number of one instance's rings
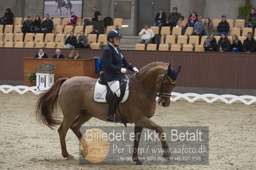
[[[58,81],[49,88],[46,93],[43,93],[37,101],[35,114],[38,123],[44,124],[49,128],[60,125],[60,121],[53,118],[53,114],[58,106],[58,93],[62,84],[67,81],[67,78],[58,79]]]

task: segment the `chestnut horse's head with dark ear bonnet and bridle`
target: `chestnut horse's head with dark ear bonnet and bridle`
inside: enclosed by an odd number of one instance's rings
[[[178,73],[180,72],[180,69],[182,66],[178,66],[176,70],[171,69],[171,64],[168,65],[168,68],[166,72],[164,73],[164,76],[160,77],[159,81],[159,105],[162,105],[163,107],[168,107],[170,104],[170,97],[171,97],[171,91],[173,91],[173,88],[176,86]]]

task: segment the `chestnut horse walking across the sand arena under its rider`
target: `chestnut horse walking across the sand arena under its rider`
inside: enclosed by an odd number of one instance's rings
[[[120,120],[120,114],[122,114],[126,116],[129,123],[135,124],[135,140],[133,141],[135,152],[133,152],[132,158],[137,164],[142,163],[137,155],[142,128],[155,130],[158,135],[164,133],[162,128],[150,118],[155,114],[156,97],[159,97],[158,104],[163,107],[169,106],[171,91],[176,86],[176,77],[180,68],[181,66],[178,66],[176,70],[173,70],[171,65],[168,66],[167,63],[155,62],[144,66],[139,74],[130,77],[130,96],[124,104],[118,106],[117,118]],[[67,152],[65,143],[65,135],[69,128],[81,140],[83,135],[80,132],[80,127],[83,123],[92,117],[107,121],[108,104],[99,104],[93,99],[96,81],[97,79],[91,77],[58,79],[38,99],[37,120],[49,128],[60,125],[58,133],[62,146],[62,156],[67,159],[73,158]],[[54,117],[58,104],[64,116],[62,122]],[[162,140],[161,143],[165,151],[163,156],[169,157],[170,153],[166,141]]]

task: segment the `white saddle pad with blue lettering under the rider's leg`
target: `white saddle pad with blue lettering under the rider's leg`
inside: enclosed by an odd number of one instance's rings
[[[125,89],[126,90],[124,93],[124,97],[120,102],[121,104],[126,102],[126,100],[129,97],[129,80],[127,81]],[[99,84],[99,82],[97,81],[94,86],[94,94],[93,94],[94,101],[98,103],[107,103],[106,95],[107,95],[107,86]]]

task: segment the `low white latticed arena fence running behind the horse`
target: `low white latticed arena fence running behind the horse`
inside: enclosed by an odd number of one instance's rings
[[[27,92],[32,92],[35,95],[38,95],[40,93],[44,93],[47,89],[44,90],[38,90],[37,86],[28,87],[28,86],[9,86],[9,85],[2,85],[0,86],[0,91],[3,93],[10,93],[11,91],[16,91],[19,94],[24,94]],[[240,101],[243,104],[250,105],[256,102],[256,97],[249,96],[249,95],[243,95],[243,96],[235,96],[235,95],[214,95],[214,94],[203,94],[199,95],[196,93],[171,93],[171,101],[175,102],[177,100],[183,99],[187,100],[188,102],[195,102],[196,100],[204,100],[207,103],[213,103],[216,101],[222,101],[226,104],[232,104],[234,102]]]

